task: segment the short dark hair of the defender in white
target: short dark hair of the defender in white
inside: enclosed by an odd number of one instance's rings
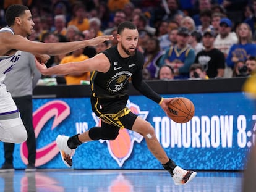
[[[14,4],[7,8],[6,10],[6,23],[11,26],[14,25],[15,17],[20,17],[25,14],[25,10],[29,10],[27,6]]]

